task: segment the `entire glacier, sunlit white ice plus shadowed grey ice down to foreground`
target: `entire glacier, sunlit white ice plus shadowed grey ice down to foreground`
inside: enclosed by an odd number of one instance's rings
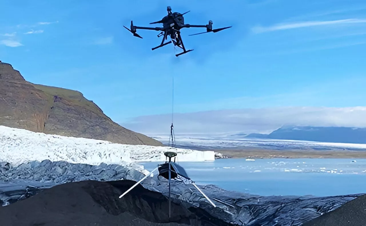
[[[0,126],[0,204],[29,198],[57,184],[81,180],[138,181],[146,175],[139,162],[164,161],[169,147],[122,145],[107,141],[34,133]],[[176,148],[179,161],[214,161],[214,152]],[[142,186],[168,194],[167,181],[147,177]],[[186,201],[236,225],[295,226],[359,196],[258,196],[198,187],[216,204],[212,208],[192,185],[172,182],[173,202]]]

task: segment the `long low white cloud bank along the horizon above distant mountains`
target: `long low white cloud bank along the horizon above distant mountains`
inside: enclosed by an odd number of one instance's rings
[[[121,123],[144,134],[170,132],[171,115],[139,116]],[[283,125],[366,127],[366,107],[277,107],[174,115],[175,133],[269,133]]]

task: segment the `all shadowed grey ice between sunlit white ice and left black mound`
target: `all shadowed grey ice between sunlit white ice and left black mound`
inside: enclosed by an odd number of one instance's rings
[[[30,161],[20,165],[0,162],[0,205],[5,206],[57,184],[81,180],[140,180],[142,168],[117,164],[88,165],[66,161]]]

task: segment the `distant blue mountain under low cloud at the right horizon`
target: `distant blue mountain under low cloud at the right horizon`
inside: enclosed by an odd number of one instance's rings
[[[284,126],[270,134],[233,134],[236,138],[318,141],[332,143],[366,143],[366,128]]]

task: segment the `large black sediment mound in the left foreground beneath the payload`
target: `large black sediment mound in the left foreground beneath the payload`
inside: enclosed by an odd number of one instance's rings
[[[189,209],[138,185],[119,196],[135,181],[80,181],[57,185],[28,199],[0,207],[2,225],[230,225],[201,208]],[[210,219],[211,218],[211,219]],[[173,223],[169,223],[173,222]]]

